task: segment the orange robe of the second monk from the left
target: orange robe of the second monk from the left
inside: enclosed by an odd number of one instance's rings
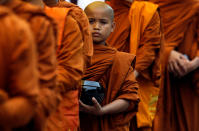
[[[57,30],[54,21],[45,15],[42,8],[21,0],[11,0],[5,4],[20,18],[26,20],[32,29],[37,49],[37,69],[39,71],[40,95],[39,106],[33,127],[42,130],[46,118],[53,112],[60,101],[56,87],[56,42]]]

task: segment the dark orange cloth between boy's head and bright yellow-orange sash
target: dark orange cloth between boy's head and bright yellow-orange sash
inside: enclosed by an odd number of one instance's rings
[[[128,19],[131,3],[125,0],[111,0],[110,6],[114,9],[114,32],[110,34],[107,42],[119,51],[129,52],[131,25]]]

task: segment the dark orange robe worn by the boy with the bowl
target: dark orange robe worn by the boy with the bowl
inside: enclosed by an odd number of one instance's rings
[[[81,131],[129,131],[130,120],[135,116],[139,102],[138,85],[132,67],[134,58],[134,55],[118,52],[108,46],[94,45],[92,63],[84,77],[99,81],[105,88],[102,105],[125,99],[130,106],[125,112],[101,117],[80,113]]]

